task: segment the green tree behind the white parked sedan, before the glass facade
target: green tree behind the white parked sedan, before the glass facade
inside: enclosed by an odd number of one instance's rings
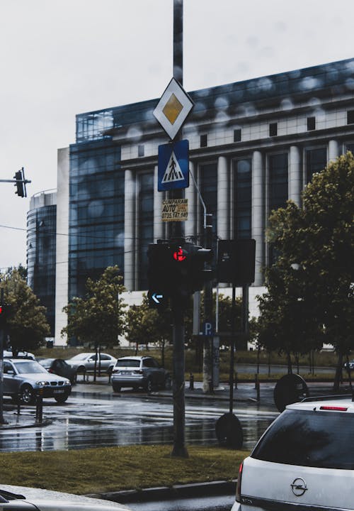
[[[109,266],[98,280],[88,278],[86,296],[74,297],[63,311],[67,326],[62,336],[76,337],[81,344],[118,346],[118,335],[125,329],[125,307],[120,295],[125,291],[118,266]]]

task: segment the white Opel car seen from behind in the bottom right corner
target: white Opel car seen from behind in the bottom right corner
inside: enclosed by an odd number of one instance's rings
[[[354,402],[306,399],[288,405],[241,463],[232,511],[354,510],[353,481]]]

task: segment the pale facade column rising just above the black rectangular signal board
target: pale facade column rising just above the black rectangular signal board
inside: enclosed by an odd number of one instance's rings
[[[227,158],[219,156],[217,160],[217,236],[229,239],[229,167]]]

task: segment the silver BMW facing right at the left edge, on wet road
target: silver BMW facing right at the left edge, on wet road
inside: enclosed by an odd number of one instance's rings
[[[3,385],[4,395],[26,405],[35,402],[39,395],[65,402],[72,392],[70,380],[48,373],[40,363],[26,358],[4,359]]]

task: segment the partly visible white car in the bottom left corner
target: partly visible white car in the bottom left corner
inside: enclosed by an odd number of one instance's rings
[[[0,485],[0,511],[129,511],[110,500],[24,486]]]

